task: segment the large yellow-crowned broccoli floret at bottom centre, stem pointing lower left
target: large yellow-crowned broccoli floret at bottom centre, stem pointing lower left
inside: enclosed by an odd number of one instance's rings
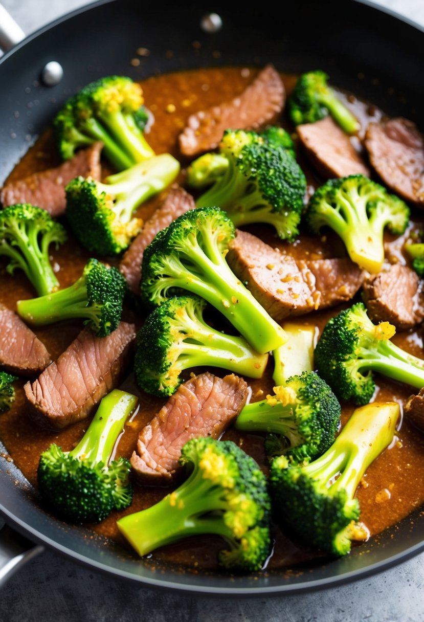
[[[254,572],[270,550],[270,500],[257,463],[231,441],[192,439],[180,462],[188,479],[154,506],[117,522],[139,555],[188,536],[216,534],[228,543],[219,564]]]

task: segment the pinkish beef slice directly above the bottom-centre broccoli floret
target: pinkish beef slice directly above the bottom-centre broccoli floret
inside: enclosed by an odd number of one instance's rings
[[[141,480],[166,483],[178,469],[181,448],[190,439],[218,439],[247,399],[247,384],[230,374],[205,373],[181,384],[140,432],[132,468]]]

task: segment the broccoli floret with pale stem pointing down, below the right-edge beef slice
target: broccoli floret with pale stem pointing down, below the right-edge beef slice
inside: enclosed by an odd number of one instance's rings
[[[329,226],[343,240],[352,261],[372,274],[384,262],[385,226],[394,234],[407,228],[409,208],[364,175],[330,179],[310,198],[305,214],[313,233]]]

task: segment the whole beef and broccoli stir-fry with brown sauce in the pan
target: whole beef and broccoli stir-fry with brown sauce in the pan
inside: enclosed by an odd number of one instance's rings
[[[424,141],[321,70],[73,94],[0,191],[0,440],[145,563],[334,559],[424,504]]]

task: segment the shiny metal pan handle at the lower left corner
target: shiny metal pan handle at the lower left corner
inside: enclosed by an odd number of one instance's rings
[[[30,542],[11,527],[0,527],[0,587],[22,564],[29,562],[43,550],[42,545]]]

